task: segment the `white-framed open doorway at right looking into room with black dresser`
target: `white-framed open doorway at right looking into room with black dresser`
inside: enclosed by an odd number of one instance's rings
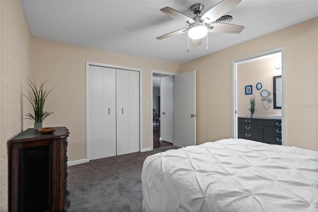
[[[267,62],[266,62],[267,61]],[[266,67],[261,67],[266,66]],[[260,68],[261,67],[261,68]],[[280,78],[280,92],[281,103],[280,107],[277,107],[277,103],[273,98],[276,98],[276,91],[274,80],[275,78]],[[263,92],[267,93],[268,96],[262,96]],[[275,94],[275,96],[274,96]],[[250,108],[250,97],[253,96],[256,99],[257,111],[252,118]],[[274,118],[281,119],[279,125],[281,129],[277,132],[279,133],[279,138],[277,141],[281,142],[281,145],[286,145],[286,117],[285,117],[285,48],[280,47],[276,49],[271,49],[268,51],[244,56],[241,58],[236,58],[232,60],[232,137],[238,138],[238,135],[245,129],[238,129],[242,124],[238,123],[238,119],[241,121],[242,118],[247,118],[248,120],[256,121],[256,119],[264,120],[263,122],[267,124],[267,120],[270,120],[270,116],[274,115]],[[257,117],[259,116],[259,117]],[[263,123],[262,122],[262,123]],[[253,123],[256,124],[256,123]],[[276,123],[277,124],[277,123]],[[254,125],[252,125],[254,126]],[[256,125],[255,125],[256,126]],[[268,132],[267,126],[260,128],[263,130],[258,132],[255,128],[253,133],[246,133],[245,135],[251,136],[253,134],[260,134],[259,138],[251,139],[261,142],[267,142]],[[247,127],[246,129],[251,129]],[[250,130],[249,130],[250,131]],[[276,130],[277,131],[277,130]],[[257,134],[258,133],[258,134]],[[266,134],[265,134],[266,133]],[[265,139],[266,135],[266,139]],[[263,139],[263,140],[262,140]],[[276,143],[275,143],[276,144]]]

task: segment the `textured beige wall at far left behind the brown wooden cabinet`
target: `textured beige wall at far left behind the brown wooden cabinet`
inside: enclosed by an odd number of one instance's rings
[[[7,211],[7,141],[26,128],[21,93],[31,77],[31,35],[20,1],[0,1],[0,211]]]

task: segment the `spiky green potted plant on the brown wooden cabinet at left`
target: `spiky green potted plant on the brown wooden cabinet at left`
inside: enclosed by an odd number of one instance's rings
[[[30,86],[30,90],[27,91],[27,95],[22,94],[26,99],[31,103],[34,115],[31,113],[26,113],[25,116],[27,116],[26,119],[34,120],[34,129],[42,128],[42,122],[43,120],[48,117],[53,112],[48,112],[47,110],[44,111],[44,104],[47,96],[50,94],[50,92],[55,88],[52,88],[51,90],[45,90],[43,88],[43,85],[48,81],[45,81],[44,83],[41,82],[41,86],[38,89],[35,84],[35,79],[33,76],[33,82],[28,78],[27,84]]]

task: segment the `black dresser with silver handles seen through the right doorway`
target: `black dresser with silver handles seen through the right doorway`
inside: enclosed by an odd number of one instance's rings
[[[238,136],[248,140],[282,145],[282,120],[238,117]]]

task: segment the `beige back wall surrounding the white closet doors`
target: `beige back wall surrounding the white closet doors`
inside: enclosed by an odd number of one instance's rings
[[[174,73],[178,65],[32,38],[32,73],[38,81],[50,79],[47,88],[57,86],[46,105],[54,113],[43,126],[68,127],[69,160],[86,157],[85,61],[142,69],[142,146],[151,148],[152,108],[145,106],[145,102],[152,101],[151,70]]]

